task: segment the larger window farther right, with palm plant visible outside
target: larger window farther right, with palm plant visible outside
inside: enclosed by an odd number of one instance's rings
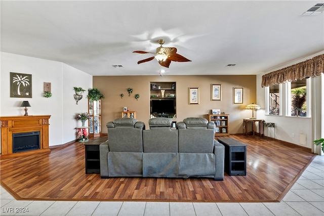
[[[290,86],[290,88],[289,88]],[[290,90],[290,104],[288,104],[288,115],[309,117],[310,116],[310,100],[307,100],[307,94],[310,93],[310,80],[294,80],[288,84]],[[309,98],[309,97],[308,97]]]

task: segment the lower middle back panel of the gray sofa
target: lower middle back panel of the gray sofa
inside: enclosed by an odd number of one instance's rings
[[[143,177],[177,178],[178,167],[178,153],[143,154]]]

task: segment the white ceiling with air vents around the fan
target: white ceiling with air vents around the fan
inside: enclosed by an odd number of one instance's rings
[[[301,16],[318,2],[1,1],[1,51],[91,75],[258,74],[324,50],[324,13]],[[138,65],[158,39],[191,62]]]

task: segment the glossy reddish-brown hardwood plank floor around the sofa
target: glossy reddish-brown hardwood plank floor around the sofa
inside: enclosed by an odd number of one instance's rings
[[[249,145],[247,176],[101,179],[85,174],[85,147],[76,142],[50,154],[0,160],[1,185],[18,200],[275,202],[315,156],[270,138],[230,137]]]

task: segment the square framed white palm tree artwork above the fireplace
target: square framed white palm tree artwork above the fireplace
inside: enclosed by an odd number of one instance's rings
[[[10,97],[31,98],[31,74],[10,72]]]

